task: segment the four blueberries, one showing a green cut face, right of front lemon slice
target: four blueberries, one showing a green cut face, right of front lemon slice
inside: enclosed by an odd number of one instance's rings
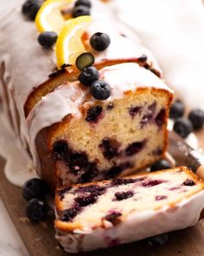
[[[108,48],[111,43],[110,37],[101,32],[93,34],[90,38],[90,44],[94,50],[102,51]],[[91,53],[82,53],[76,59],[76,67],[82,72],[78,79],[86,87],[90,87],[92,96],[100,101],[104,101],[111,95],[110,85],[99,80],[99,71],[92,66],[94,63],[94,56]]]

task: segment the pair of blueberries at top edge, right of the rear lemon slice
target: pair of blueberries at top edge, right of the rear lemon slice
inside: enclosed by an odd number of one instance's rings
[[[91,14],[92,3],[89,0],[77,0],[73,8],[73,17]]]

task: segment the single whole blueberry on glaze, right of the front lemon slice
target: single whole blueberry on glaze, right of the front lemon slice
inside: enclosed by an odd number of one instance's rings
[[[97,32],[90,38],[90,44],[92,45],[92,48],[98,51],[107,49],[110,43],[110,36],[105,33]]]

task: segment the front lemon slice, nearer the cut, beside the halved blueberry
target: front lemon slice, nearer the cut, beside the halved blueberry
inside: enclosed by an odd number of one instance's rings
[[[55,49],[58,69],[61,69],[64,64],[74,65],[76,58],[86,51],[81,36],[91,22],[91,16],[79,16],[65,23],[58,36]]]

